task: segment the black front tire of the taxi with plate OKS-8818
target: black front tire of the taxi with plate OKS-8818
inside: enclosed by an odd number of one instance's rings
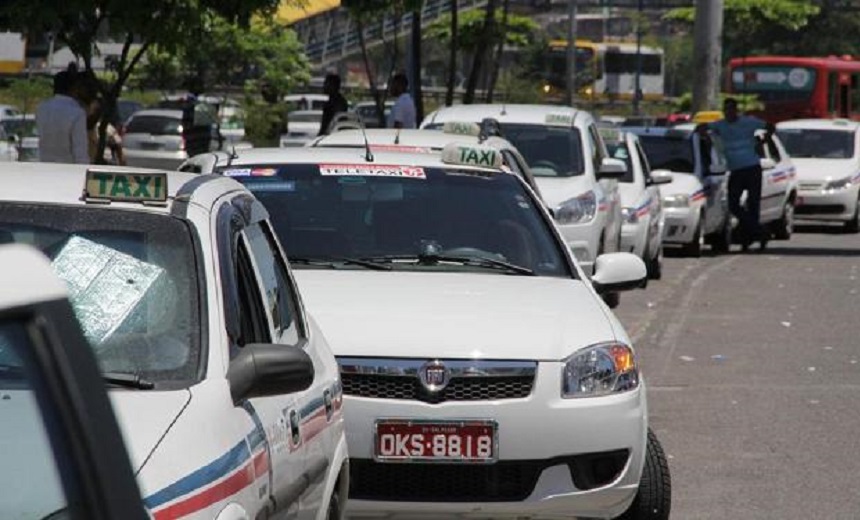
[[[657,436],[648,428],[645,467],[636,498],[617,520],[668,520],[672,510],[672,479],[669,462]]]

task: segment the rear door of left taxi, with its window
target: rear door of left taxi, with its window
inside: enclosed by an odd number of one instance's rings
[[[264,311],[273,343],[301,345],[314,359],[318,352],[308,341],[298,293],[270,224],[265,220],[255,222],[245,228],[243,237],[264,296]],[[287,462],[290,472],[295,466],[302,468],[301,489],[294,486],[299,498],[299,518],[313,518],[323,506],[325,476],[333,450],[332,439],[327,435],[331,433],[328,426],[334,419],[335,389],[332,385],[336,372],[334,366],[325,367],[318,356],[314,359],[314,368],[316,375],[310,388],[295,394],[286,413],[291,434],[290,460],[275,461],[276,464]],[[279,467],[274,468],[276,489]]]

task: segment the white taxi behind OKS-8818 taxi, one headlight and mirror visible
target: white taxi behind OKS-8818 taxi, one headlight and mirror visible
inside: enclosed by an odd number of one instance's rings
[[[502,137],[525,157],[561,234],[586,273],[605,252],[621,249],[621,196],[626,171],[610,158],[588,112],[550,105],[458,105],[427,116],[421,128],[449,122],[498,121]]]

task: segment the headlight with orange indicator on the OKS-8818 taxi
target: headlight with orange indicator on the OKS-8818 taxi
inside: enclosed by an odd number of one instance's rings
[[[639,369],[633,349],[622,343],[600,343],[567,359],[561,395],[598,397],[627,392],[639,386]]]

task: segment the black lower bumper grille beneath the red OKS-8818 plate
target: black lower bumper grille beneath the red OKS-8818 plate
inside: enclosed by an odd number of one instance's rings
[[[353,459],[349,497],[395,502],[519,502],[532,493],[543,468],[543,461],[470,465]]]

